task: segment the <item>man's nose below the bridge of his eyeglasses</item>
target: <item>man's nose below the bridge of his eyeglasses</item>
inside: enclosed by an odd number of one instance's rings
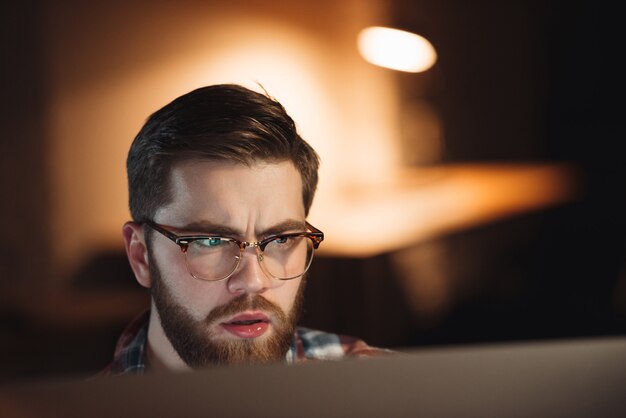
[[[246,248],[241,254],[239,268],[228,279],[228,291],[235,295],[263,293],[272,285],[272,278],[261,268],[257,249]]]

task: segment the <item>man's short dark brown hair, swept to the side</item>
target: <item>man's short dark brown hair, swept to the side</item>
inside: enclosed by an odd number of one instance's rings
[[[275,99],[234,84],[202,87],[153,113],[133,141],[126,168],[135,222],[152,219],[171,201],[172,167],[188,160],[291,161],[302,177],[308,213],[319,158]]]

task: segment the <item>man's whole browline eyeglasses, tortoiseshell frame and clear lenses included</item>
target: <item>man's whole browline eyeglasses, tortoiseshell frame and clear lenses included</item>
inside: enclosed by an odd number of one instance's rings
[[[177,244],[185,254],[187,270],[194,278],[226,280],[232,276],[246,247],[254,247],[263,271],[278,280],[301,277],[313,261],[313,252],[324,240],[324,233],[306,223],[306,231],[273,235],[258,242],[239,241],[218,235],[177,235],[153,221],[146,225]]]

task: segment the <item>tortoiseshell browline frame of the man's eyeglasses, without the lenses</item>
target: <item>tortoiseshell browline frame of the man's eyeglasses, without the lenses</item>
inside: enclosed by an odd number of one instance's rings
[[[149,226],[151,229],[155,230],[156,232],[160,233],[161,235],[165,236],[166,238],[170,239],[172,242],[174,242],[174,244],[178,245],[180,247],[180,250],[183,254],[185,254],[185,265],[187,267],[187,272],[191,275],[191,277],[193,277],[194,279],[197,280],[202,280],[205,282],[220,282],[220,281],[224,281],[229,279],[233,274],[235,274],[235,272],[239,269],[239,265],[241,264],[241,259],[243,256],[243,252],[245,251],[246,247],[251,247],[251,248],[257,248],[258,250],[260,250],[260,253],[257,253],[257,260],[259,261],[259,263],[261,263],[262,258],[259,258],[259,255],[262,255],[265,252],[265,247],[272,241],[274,241],[277,238],[291,238],[291,237],[306,237],[308,239],[311,240],[311,242],[313,243],[313,250],[317,250],[317,248],[319,247],[320,243],[322,241],[324,241],[324,233],[322,231],[320,231],[319,229],[317,229],[316,227],[314,227],[313,225],[311,225],[310,223],[305,221],[305,228],[307,229],[307,231],[302,231],[302,232],[288,232],[285,234],[275,234],[275,235],[271,235],[267,238],[262,239],[261,241],[241,241],[238,240],[236,238],[232,238],[232,237],[225,237],[225,236],[221,236],[218,234],[214,234],[214,235],[208,235],[208,234],[193,234],[193,235],[178,235],[170,230],[168,230],[167,228],[173,228],[170,227],[168,225],[161,225],[158,224],[150,219],[146,220],[143,222],[143,224]],[[230,242],[233,242],[235,244],[237,244],[237,246],[239,247],[239,256],[237,257],[237,264],[235,264],[235,268],[233,269],[233,271],[231,271],[227,276],[222,277],[220,279],[203,279],[201,277],[198,277],[196,275],[194,275],[191,270],[189,269],[189,264],[187,262],[187,250],[189,249],[189,244],[191,244],[193,241],[198,241],[201,239],[209,239],[209,238],[220,238],[220,239],[226,239]],[[313,256],[311,256],[311,261],[313,261]],[[287,280],[293,280],[296,279],[298,277],[302,277],[309,269],[309,267],[311,266],[311,261],[308,263],[308,265],[306,266],[306,268],[304,269],[304,271],[302,272],[302,274],[300,274],[299,276],[294,276],[294,277],[289,277],[289,278],[279,278],[274,276],[273,274],[269,273],[266,268],[261,264],[261,267],[263,268],[263,271],[266,272],[268,275],[270,275],[272,278],[276,279],[276,280],[283,280],[283,281],[287,281]]]

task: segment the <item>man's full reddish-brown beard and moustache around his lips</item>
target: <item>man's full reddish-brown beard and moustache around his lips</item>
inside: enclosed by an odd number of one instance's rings
[[[156,263],[150,263],[151,294],[161,326],[180,358],[193,369],[213,365],[273,363],[285,360],[302,311],[305,278],[286,314],[279,306],[255,294],[243,294],[217,306],[204,319],[196,320],[177,303],[161,279]],[[195,279],[194,279],[195,280]],[[258,338],[216,338],[213,326],[220,318],[245,310],[262,310],[272,320],[271,333]]]

